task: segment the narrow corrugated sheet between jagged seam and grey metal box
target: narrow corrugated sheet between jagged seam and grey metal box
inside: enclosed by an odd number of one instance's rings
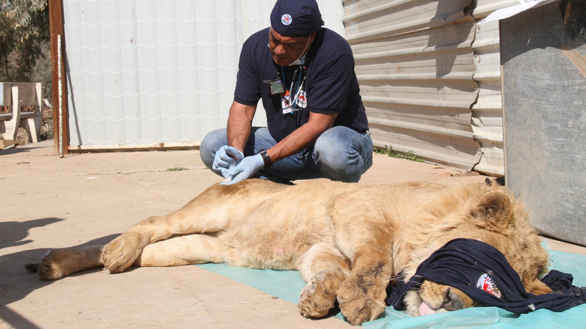
[[[496,9],[519,4],[519,0],[477,0],[472,15],[480,21]],[[480,91],[472,106],[474,139],[481,145],[482,156],[474,170],[492,176],[505,174],[503,153],[503,114],[500,85],[499,22],[476,26],[474,43],[474,80]]]

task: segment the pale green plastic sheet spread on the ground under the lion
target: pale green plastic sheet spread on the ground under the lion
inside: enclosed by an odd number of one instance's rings
[[[574,275],[575,286],[586,286],[586,256],[550,251],[551,269]],[[299,272],[235,268],[225,264],[202,264],[200,268],[244,283],[272,296],[297,304],[299,292],[305,286]],[[300,315],[301,316],[301,315]],[[342,314],[335,315],[343,320]],[[410,317],[387,307],[377,320],[363,323],[365,328],[584,328],[586,304],[560,313],[537,310],[529,314],[513,314],[498,307],[472,307],[459,311]]]

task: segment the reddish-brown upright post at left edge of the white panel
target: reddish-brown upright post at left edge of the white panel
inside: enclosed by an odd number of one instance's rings
[[[63,0],[49,0],[49,26],[51,33],[51,81],[53,84],[53,104],[61,104],[63,107],[63,116],[60,116],[59,113],[56,113],[58,107],[53,106],[54,154],[59,153],[59,146],[61,146],[63,154],[67,155],[67,150],[69,148],[69,134],[67,130],[67,88],[65,88],[64,66],[61,65],[61,84],[63,85],[65,92],[63,92],[61,98],[59,98],[59,59],[57,59],[58,35],[63,39],[62,47],[64,48],[62,1]],[[59,136],[60,131],[63,131],[63,136]]]

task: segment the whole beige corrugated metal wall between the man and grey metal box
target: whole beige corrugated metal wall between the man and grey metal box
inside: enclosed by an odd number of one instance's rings
[[[498,22],[519,0],[345,0],[374,145],[504,174]]]

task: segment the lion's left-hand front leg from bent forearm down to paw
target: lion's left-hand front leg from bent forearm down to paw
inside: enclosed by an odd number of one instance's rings
[[[299,272],[307,282],[299,296],[299,312],[309,318],[326,316],[336,300],[340,283],[350,273],[347,262],[331,246],[316,244],[305,253]]]

